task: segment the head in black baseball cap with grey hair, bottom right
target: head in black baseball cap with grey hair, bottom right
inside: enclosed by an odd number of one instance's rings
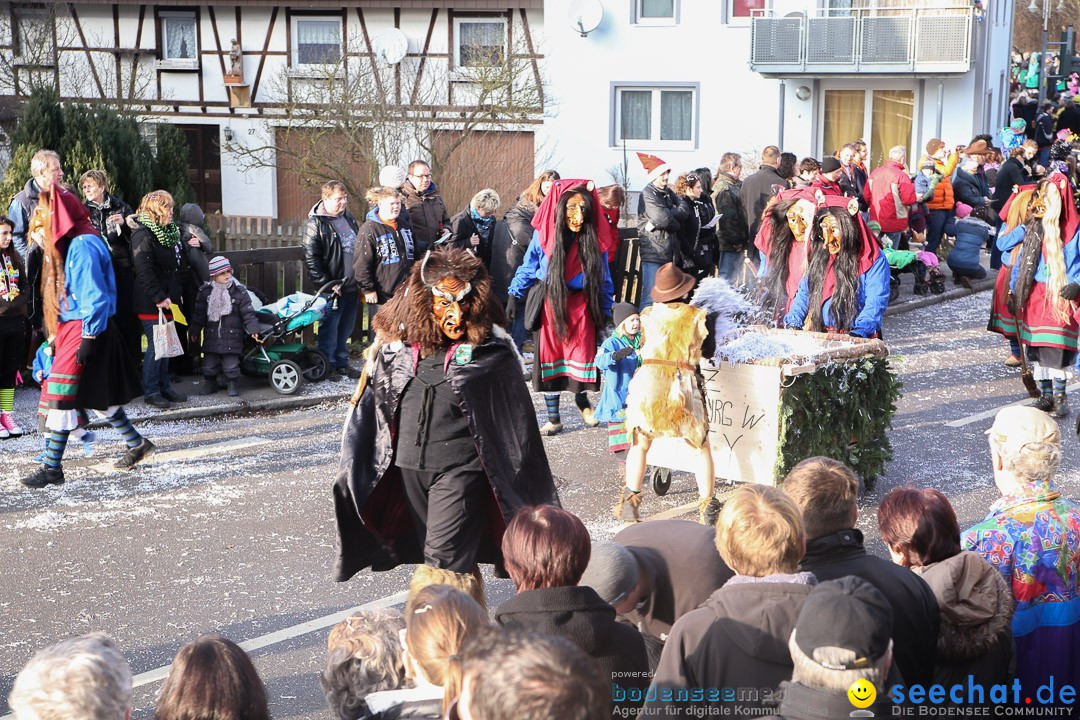
[[[872,667],[889,650],[892,607],[862,578],[819,583],[795,622],[792,649],[826,670]]]

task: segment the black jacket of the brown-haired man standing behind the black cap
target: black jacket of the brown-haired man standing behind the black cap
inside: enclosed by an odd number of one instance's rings
[[[900,674],[908,687],[933,684],[941,613],[933,590],[921,578],[867,555],[858,529],[808,541],[799,569],[809,570],[819,582],[855,575],[881,590],[892,606],[893,657]]]

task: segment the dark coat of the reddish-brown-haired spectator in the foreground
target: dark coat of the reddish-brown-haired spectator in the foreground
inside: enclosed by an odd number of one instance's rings
[[[569,640],[589,655],[602,678],[622,691],[636,688],[642,692],[637,696],[644,697],[649,688],[649,661],[642,634],[617,622],[615,608],[591,587],[524,590],[496,609],[495,622]],[[612,705],[637,708],[642,702],[624,699]]]

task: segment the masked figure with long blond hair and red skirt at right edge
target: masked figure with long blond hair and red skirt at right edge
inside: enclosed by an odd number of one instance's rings
[[[1052,161],[1063,151],[1059,145],[1054,145]],[[1055,418],[1069,413],[1065,380],[1077,358],[1080,330],[1075,316],[1080,217],[1071,198],[1068,179],[1054,172],[1036,188],[1024,225],[998,239],[1002,255],[1021,247],[1010,276],[1009,309],[1016,317],[1021,352],[1026,352],[1039,381],[1036,407]]]

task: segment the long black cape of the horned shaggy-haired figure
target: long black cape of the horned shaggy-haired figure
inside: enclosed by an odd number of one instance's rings
[[[471,355],[455,353],[446,379],[491,484],[486,507],[472,516],[484,522],[487,538],[476,559],[501,571],[499,539],[514,513],[524,505],[558,505],[558,493],[513,341],[500,330],[471,350]],[[423,562],[401,471],[393,463],[397,409],[415,373],[413,351],[393,342],[373,355],[370,381],[346,418],[334,483],[339,540],[334,578],[339,582],[364,568]]]

